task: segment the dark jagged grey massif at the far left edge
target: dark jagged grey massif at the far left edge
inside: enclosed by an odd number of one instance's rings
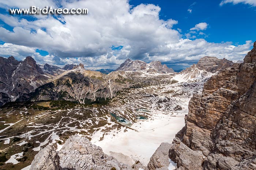
[[[17,61],[13,56],[0,57],[0,106],[26,96],[51,79],[30,56],[24,61]]]

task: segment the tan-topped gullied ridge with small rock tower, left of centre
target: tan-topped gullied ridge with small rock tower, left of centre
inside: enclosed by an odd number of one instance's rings
[[[56,76],[51,82],[37,88],[30,101],[69,100],[82,104],[106,103],[116,93],[132,86],[132,81],[120,72],[108,75],[84,69],[83,64]]]

